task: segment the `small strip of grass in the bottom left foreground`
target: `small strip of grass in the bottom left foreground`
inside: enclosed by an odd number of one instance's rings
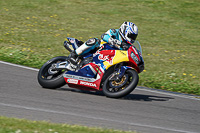
[[[135,133],[0,116],[0,133]]]

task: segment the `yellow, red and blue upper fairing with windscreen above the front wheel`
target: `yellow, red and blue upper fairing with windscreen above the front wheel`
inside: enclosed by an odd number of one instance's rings
[[[93,61],[95,64],[101,64],[104,70],[118,64],[120,62],[127,62],[131,67],[139,72],[143,71],[144,61],[142,58],[142,48],[138,41],[130,45],[128,50],[119,50],[111,47],[105,43],[101,48],[93,54]]]

